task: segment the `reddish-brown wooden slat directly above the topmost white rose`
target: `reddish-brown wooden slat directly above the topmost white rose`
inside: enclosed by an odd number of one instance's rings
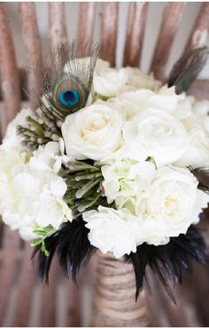
[[[115,65],[119,4],[103,3],[102,8],[101,58],[110,61],[113,67]]]

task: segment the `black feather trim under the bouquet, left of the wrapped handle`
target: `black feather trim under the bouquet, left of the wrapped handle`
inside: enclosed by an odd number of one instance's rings
[[[65,223],[58,231],[45,238],[45,248],[50,253],[48,257],[37,246],[34,255],[38,254],[38,271],[43,280],[48,283],[51,261],[58,254],[58,260],[67,276],[72,274],[73,279],[81,267],[88,262],[97,248],[89,243],[89,229],[83,220],[73,220]]]

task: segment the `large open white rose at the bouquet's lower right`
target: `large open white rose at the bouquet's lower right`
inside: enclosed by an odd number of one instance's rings
[[[186,234],[190,225],[197,223],[208,200],[197,189],[197,179],[188,169],[159,168],[149,193],[138,204],[143,216],[143,241],[166,244],[170,237]]]

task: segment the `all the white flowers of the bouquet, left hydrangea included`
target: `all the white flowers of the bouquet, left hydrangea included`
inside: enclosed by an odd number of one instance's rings
[[[73,220],[65,202],[66,160],[95,161],[108,207],[83,212],[89,241],[116,258],[139,244],[166,244],[196,224],[208,196],[189,166],[209,164],[209,102],[161,87],[138,68],[97,60],[88,106],[66,116],[62,137],[28,154],[10,124],[0,148],[0,212],[26,239]],[[66,152],[66,153],[65,153]]]

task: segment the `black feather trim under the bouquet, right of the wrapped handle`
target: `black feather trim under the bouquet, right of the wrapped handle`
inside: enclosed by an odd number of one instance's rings
[[[149,266],[175,303],[168,280],[181,284],[182,269],[190,270],[192,259],[201,264],[205,263],[205,242],[193,226],[188,229],[186,235],[170,238],[168,244],[139,245],[136,252],[125,256],[125,261],[132,263],[135,269],[135,300],[143,289],[143,278],[147,280],[146,268]]]

